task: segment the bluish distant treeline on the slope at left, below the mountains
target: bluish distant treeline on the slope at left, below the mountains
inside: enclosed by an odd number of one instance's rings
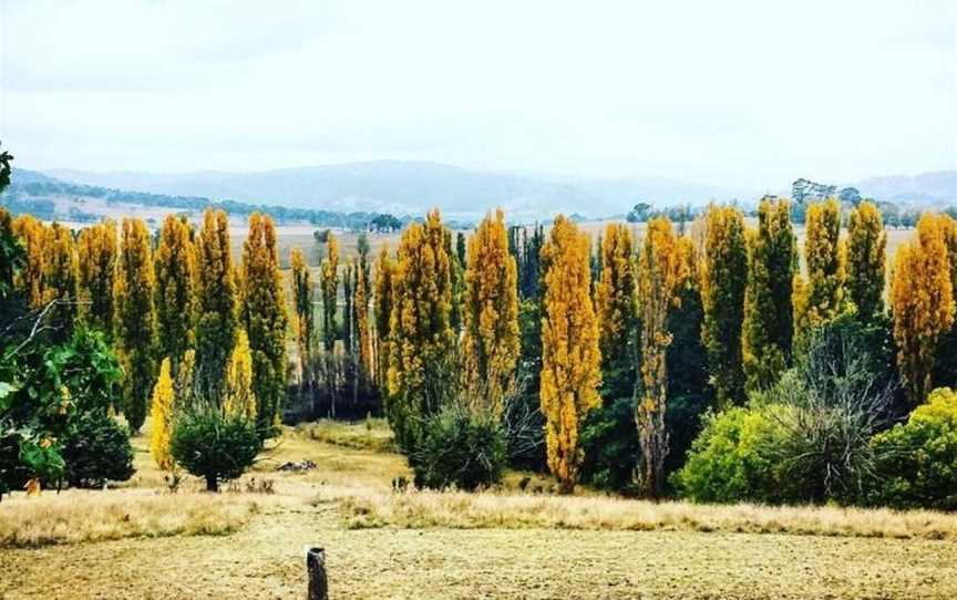
[[[58,214],[56,205],[52,199],[53,196],[97,198],[111,205],[125,203],[178,210],[204,210],[208,207],[214,207],[225,210],[229,215],[238,216],[266,213],[278,223],[308,223],[323,227],[341,227],[359,230],[394,231],[411,221],[409,217],[395,217],[384,213],[340,213],[312,208],[254,205],[236,200],[212,200],[199,196],[168,196],[165,194],[127,192],[59,180],[14,183],[0,197],[0,206],[6,206],[14,214],[29,213],[47,220],[69,218],[76,221],[95,221],[101,217],[101,215],[86,213],[76,207],[71,207],[68,214]]]

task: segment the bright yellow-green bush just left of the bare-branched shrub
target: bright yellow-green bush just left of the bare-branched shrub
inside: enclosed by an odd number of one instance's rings
[[[672,477],[698,503],[779,501],[775,448],[783,428],[780,406],[733,407],[704,417],[688,462]]]

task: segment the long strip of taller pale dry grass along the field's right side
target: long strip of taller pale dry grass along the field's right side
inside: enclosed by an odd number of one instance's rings
[[[700,531],[957,540],[957,515],[840,507],[650,503],[603,496],[559,497],[486,492],[382,493],[327,488],[351,528],[584,529]]]

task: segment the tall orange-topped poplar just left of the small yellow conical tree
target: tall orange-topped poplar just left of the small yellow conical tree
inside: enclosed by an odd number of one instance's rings
[[[115,341],[125,371],[123,413],[138,431],[156,374],[156,314],[153,306],[153,257],[150,231],[140,219],[123,219],[123,239],[114,283]]]

